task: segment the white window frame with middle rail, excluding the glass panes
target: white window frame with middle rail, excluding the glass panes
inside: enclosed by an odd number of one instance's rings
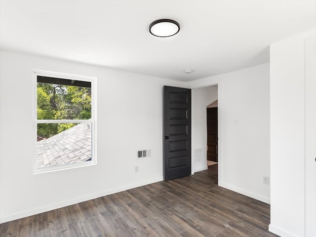
[[[90,165],[97,164],[97,156],[96,156],[96,78],[94,77],[86,77],[65,73],[56,73],[56,72],[48,72],[42,70],[33,70],[34,74],[34,160],[33,160],[33,174],[46,173],[57,170],[65,170],[77,167],[84,167]],[[90,119],[37,119],[37,77],[52,77],[52,78],[60,78],[60,79],[70,79],[70,80],[81,80],[91,82],[91,118]],[[38,136],[38,123],[91,123],[91,160],[82,161],[72,164],[62,164],[55,165],[49,167],[38,168],[38,153],[37,153],[37,136]]]

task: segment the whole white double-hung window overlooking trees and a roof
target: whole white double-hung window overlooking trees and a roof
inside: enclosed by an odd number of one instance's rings
[[[34,173],[96,164],[95,78],[34,70]]]

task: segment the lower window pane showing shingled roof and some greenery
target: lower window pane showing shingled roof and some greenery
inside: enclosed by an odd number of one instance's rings
[[[37,167],[91,160],[91,130],[91,123],[39,123]]]

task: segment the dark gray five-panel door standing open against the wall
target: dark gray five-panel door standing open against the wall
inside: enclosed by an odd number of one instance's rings
[[[163,179],[191,175],[191,89],[164,86]]]

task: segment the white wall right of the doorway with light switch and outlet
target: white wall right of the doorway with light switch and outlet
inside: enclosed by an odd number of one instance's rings
[[[214,83],[218,83],[218,184],[269,203],[270,186],[263,184],[263,176],[270,176],[269,63],[192,81],[188,86]]]

